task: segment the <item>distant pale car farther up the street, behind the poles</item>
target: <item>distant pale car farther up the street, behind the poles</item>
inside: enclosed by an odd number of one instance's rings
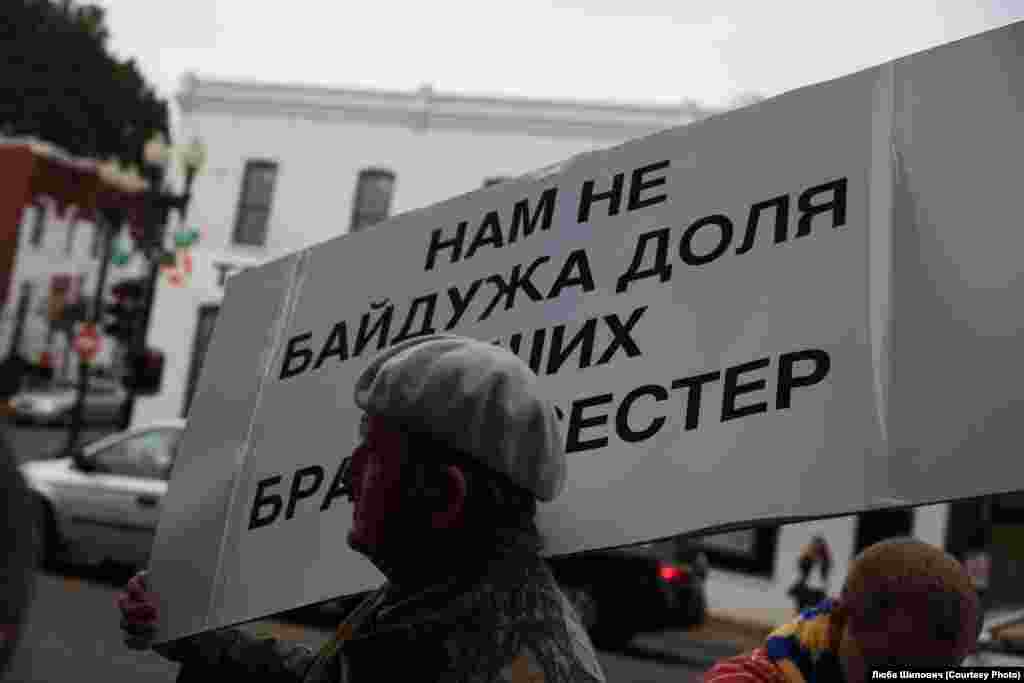
[[[68,424],[78,396],[78,385],[58,381],[48,387],[20,391],[10,399],[14,419],[20,423]],[[127,392],[117,382],[91,379],[82,403],[86,424],[111,423],[121,415]]]

